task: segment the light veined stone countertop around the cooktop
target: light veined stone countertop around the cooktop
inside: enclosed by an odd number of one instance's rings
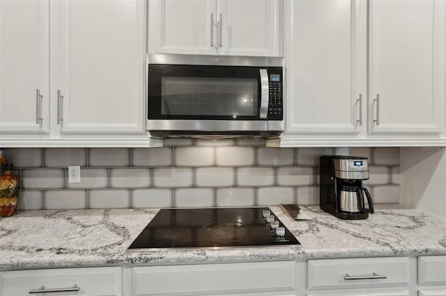
[[[446,218],[438,215],[387,204],[347,221],[305,206],[310,219],[294,221],[270,208],[302,246],[126,252],[159,209],[24,211],[0,218],[0,268],[446,254]]]

